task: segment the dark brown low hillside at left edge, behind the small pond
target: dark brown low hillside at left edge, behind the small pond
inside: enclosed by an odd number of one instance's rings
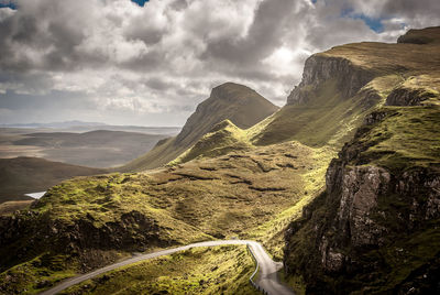
[[[0,159],[0,203],[25,200],[23,194],[43,192],[74,176],[106,171],[52,162],[38,157]]]

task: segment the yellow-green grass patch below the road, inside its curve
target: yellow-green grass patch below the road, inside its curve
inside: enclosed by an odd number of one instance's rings
[[[258,294],[244,245],[196,248],[109,272],[62,294]]]

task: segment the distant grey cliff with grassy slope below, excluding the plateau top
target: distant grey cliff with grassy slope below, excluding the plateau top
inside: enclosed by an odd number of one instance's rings
[[[361,118],[382,103],[385,92],[398,77],[382,75],[331,52],[315,54],[306,61],[301,83],[287,105],[275,113],[251,141],[256,145],[298,140],[310,146],[329,143],[340,149]]]

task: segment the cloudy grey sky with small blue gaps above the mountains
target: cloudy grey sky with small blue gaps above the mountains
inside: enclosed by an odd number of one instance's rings
[[[0,124],[183,125],[226,81],[284,106],[311,54],[438,15],[438,0],[0,0]]]

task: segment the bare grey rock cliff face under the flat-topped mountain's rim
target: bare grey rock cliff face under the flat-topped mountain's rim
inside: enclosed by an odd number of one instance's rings
[[[336,79],[341,96],[349,98],[373,78],[373,72],[355,66],[350,59],[316,54],[306,61],[302,80],[288,96],[287,105],[308,102],[314,90],[330,79]]]

